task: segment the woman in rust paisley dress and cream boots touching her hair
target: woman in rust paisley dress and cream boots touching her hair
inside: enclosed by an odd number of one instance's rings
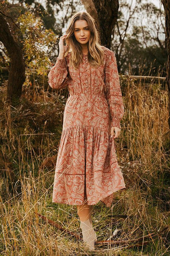
[[[77,205],[84,244],[94,250],[92,207],[99,201],[111,207],[114,192],[125,188],[114,144],[124,114],[119,75],[113,51],[99,44],[95,21],[87,12],[72,16],[59,50],[48,83],[54,89],[68,86],[70,95],[52,202]]]

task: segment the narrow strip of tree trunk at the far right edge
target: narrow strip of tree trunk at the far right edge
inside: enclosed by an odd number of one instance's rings
[[[169,96],[169,128],[170,128],[170,1],[169,0],[162,0],[165,10],[165,33],[166,33],[166,48],[168,54],[168,61],[167,61],[167,76],[166,82],[168,86],[168,96]]]

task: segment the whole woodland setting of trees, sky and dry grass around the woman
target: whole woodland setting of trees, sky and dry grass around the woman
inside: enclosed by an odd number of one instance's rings
[[[93,255],[66,232],[81,235],[76,207],[52,203],[68,89],[53,90],[47,82],[60,36],[74,12],[84,10],[96,19],[101,44],[116,55],[125,106],[115,143],[126,190],[115,193],[111,208],[94,207],[103,241],[94,255],[168,256],[166,0],[0,0],[0,255]]]

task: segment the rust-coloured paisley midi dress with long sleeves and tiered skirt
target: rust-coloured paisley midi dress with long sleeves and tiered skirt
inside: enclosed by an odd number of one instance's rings
[[[83,55],[79,69],[69,65],[71,52],[57,57],[48,74],[53,89],[68,87],[58,147],[52,202],[70,205],[102,201],[111,207],[114,192],[125,188],[111,126],[120,128],[124,105],[116,57],[102,46],[104,63],[92,67]]]

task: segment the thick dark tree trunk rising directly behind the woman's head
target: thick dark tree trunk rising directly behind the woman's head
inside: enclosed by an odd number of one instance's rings
[[[82,0],[86,11],[96,20],[100,34],[100,43],[111,48],[111,35],[116,24],[118,0]]]

